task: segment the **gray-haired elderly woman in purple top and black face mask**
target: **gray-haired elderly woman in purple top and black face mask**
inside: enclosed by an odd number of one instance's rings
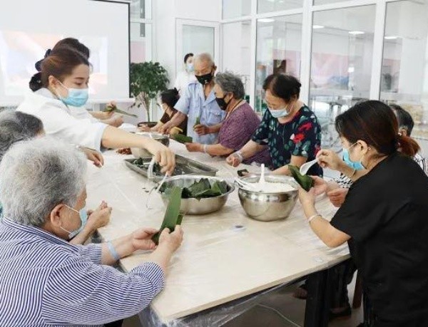
[[[215,76],[215,100],[226,118],[218,133],[218,142],[214,145],[198,142],[186,143],[190,152],[205,152],[208,155],[228,156],[243,147],[253,136],[260,125],[260,118],[253,108],[244,100],[243,82],[233,73],[218,73]],[[243,163],[270,165],[270,155],[267,146],[246,158]]]

